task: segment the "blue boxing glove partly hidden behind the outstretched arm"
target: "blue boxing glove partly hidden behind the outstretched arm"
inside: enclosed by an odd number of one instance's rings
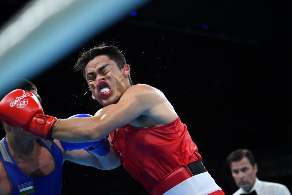
[[[92,115],[90,114],[75,114],[73,116],[70,116],[69,119],[74,117],[91,117],[91,116]],[[60,144],[66,151],[84,149],[89,153],[93,154],[94,156],[105,156],[108,154],[111,148],[111,144],[106,138],[103,138],[100,141],[96,142],[85,143],[69,143],[60,141]]]

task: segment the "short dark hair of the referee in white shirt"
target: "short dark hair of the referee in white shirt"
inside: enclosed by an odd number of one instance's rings
[[[252,167],[254,167],[256,161],[254,159],[254,155],[252,154],[252,152],[248,149],[237,149],[230,153],[226,158],[229,168],[231,168],[232,162],[238,162],[241,159],[243,159],[243,157],[246,157],[249,160],[249,163],[252,165]]]

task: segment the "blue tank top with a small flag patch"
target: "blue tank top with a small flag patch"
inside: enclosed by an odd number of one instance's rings
[[[30,177],[23,173],[11,156],[6,137],[0,141],[0,157],[4,168],[12,183],[11,195],[58,195],[62,187],[63,153],[55,142],[38,139],[52,154],[55,160],[55,169],[52,173],[41,177]]]

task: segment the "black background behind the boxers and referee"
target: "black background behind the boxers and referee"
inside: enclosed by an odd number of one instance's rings
[[[0,2],[3,23],[27,1]],[[292,191],[289,5],[156,0],[133,11],[137,16],[129,13],[30,79],[38,87],[45,114],[94,114],[100,107],[72,65],[83,48],[115,44],[125,54],[135,84],[164,92],[227,195],[237,187],[226,156],[238,148],[253,151],[260,180],[285,184]],[[65,162],[62,194],[146,192],[122,166],[102,171]]]

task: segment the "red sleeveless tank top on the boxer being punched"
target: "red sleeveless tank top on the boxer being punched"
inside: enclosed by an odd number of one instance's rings
[[[187,126],[179,117],[160,127],[125,125],[117,133],[112,132],[111,138],[125,170],[142,183],[149,194],[173,169],[198,159],[202,161]]]

